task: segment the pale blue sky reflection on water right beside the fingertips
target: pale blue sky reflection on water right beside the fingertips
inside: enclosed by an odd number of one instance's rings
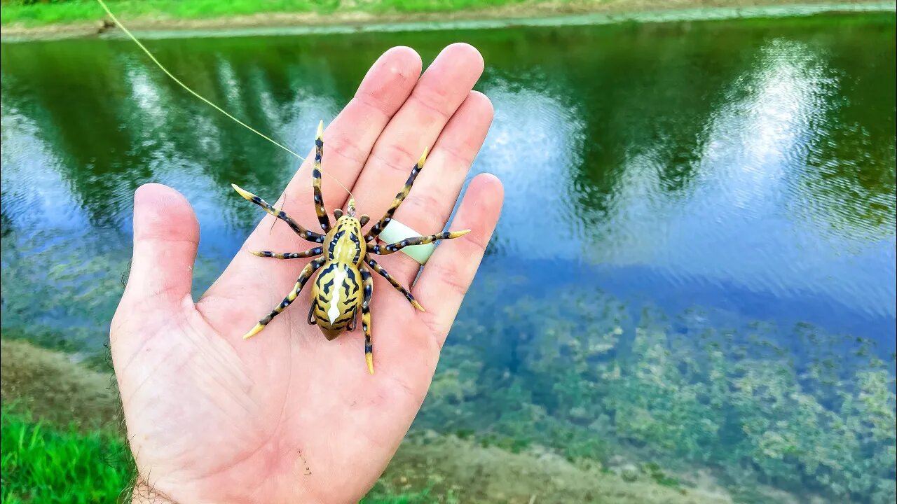
[[[575,260],[590,232],[570,200],[576,190],[568,173],[580,162],[585,121],[575,105],[540,87],[515,89],[503,79],[485,87],[495,119],[475,169],[508,187],[496,247],[520,259]]]

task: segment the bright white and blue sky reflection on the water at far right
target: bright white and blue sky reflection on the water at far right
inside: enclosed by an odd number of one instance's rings
[[[805,205],[822,203],[801,192],[812,172],[808,152],[820,134],[838,127],[824,122],[840,94],[823,56],[806,44],[773,39],[726,95],[708,124],[695,194],[678,208],[654,213],[666,216],[661,225],[673,234],[656,262],[687,274],[737,279],[754,291],[813,291],[859,309],[869,303],[893,317],[893,290],[881,281],[883,272],[839,274],[841,281],[832,282],[833,272],[849,264],[847,251],[832,248],[829,230],[802,218]],[[870,253],[849,253],[873,261],[887,257],[893,230],[874,231],[885,240],[866,244]]]

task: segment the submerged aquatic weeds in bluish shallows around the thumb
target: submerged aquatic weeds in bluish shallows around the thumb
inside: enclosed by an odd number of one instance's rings
[[[0,239],[4,277],[0,286],[4,335],[20,333],[33,343],[66,352],[102,352],[109,320],[124,291],[130,253],[109,248],[126,242],[118,232],[102,231],[62,246],[66,230],[13,230]],[[196,291],[220,272],[213,259],[199,257]]]

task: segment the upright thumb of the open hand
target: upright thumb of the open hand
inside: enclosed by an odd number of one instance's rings
[[[179,305],[190,299],[199,223],[187,198],[171,187],[146,184],[134,195],[134,257],[124,298]]]

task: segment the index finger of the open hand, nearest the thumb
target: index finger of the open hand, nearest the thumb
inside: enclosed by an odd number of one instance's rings
[[[370,67],[353,99],[327,125],[324,133],[322,192],[328,212],[332,213],[334,208],[343,206],[347,195],[340,183],[345,187],[353,187],[383,128],[414,89],[421,74],[421,66],[421,56],[414,49],[389,49]],[[305,140],[310,149],[314,138],[309,136]],[[312,195],[312,157],[308,157],[284,191],[286,208],[283,210],[291,213],[303,225],[319,231],[317,226],[313,226],[318,217],[314,213]],[[283,202],[283,198],[280,201]],[[266,248],[271,246],[273,239],[277,246],[294,244],[292,232],[283,229],[283,226],[275,226],[276,236],[270,236],[273,219],[274,217],[266,217],[258,225],[255,235],[264,237]],[[252,243],[254,244],[254,240]]]

